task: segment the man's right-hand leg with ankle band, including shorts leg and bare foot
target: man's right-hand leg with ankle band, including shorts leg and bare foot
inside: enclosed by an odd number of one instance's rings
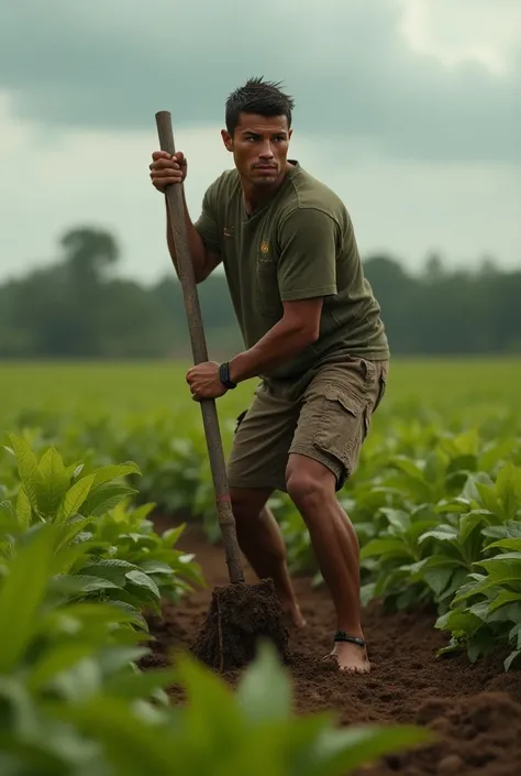
[[[286,471],[288,494],[308,527],[336,610],[332,655],[353,673],[367,673],[369,660],[361,624],[358,540],[336,491],[356,468],[386,376],[386,363],[363,359],[321,370],[304,397]]]

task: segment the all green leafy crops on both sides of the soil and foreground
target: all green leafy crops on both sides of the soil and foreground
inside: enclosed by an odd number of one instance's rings
[[[142,670],[147,615],[203,583],[197,558],[158,536],[153,509],[219,536],[199,418],[20,415],[0,455],[0,772],[345,774],[424,739],[296,718],[268,648],[235,693],[179,658]],[[226,442],[232,426],[223,424]],[[123,462],[123,463],[122,463]],[[342,501],[361,539],[363,598],[432,603],[446,651],[521,655],[521,434],[488,405],[380,413]],[[293,572],[317,571],[302,521],[271,506]],[[166,690],[180,684],[182,707]],[[267,695],[267,689],[269,693]],[[225,710],[225,713],[223,711]],[[422,737],[423,736],[423,737]],[[268,768],[269,761],[269,768]],[[278,765],[277,765],[278,764]],[[278,768],[278,769],[277,769]]]

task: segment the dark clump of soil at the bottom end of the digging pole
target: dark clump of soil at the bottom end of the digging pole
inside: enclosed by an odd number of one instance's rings
[[[243,668],[255,658],[259,641],[274,644],[288,663],[289,633],[273,580],[215,587],[192,654],[219,671]]]

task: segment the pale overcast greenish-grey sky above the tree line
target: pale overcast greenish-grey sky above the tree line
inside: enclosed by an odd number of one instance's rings
[[[343,197],[363,255],[521,265],[520,0],[5,0],[0,281],[79,225],[114,232],[122,273],[169,272],[154,114],[196,218],[252,75],[295,97],[291,156]]]

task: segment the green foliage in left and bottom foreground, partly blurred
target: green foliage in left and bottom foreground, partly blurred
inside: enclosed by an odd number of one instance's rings
[[[114,480],[134,463],[82,474],[53,448],[37,459],[23,439],[11,444],[20,481],[0,504],[2,776],[341,776],[431,741],[412,726],[339,730],[329,714],[293,715],[267,645],[236,692],[187,655],[142,671],[143,614],[178,573],[199,580],[193,560],[173,549],[177,534],[162,544],[140,533],[143,521],[129,531]],[[171,685],[186,690],[181,708]]]

